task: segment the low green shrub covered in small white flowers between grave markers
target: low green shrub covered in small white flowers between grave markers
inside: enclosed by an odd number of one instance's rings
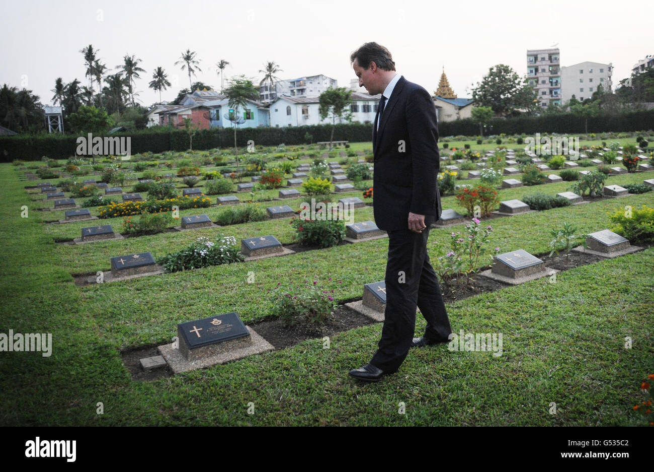
[[[233,236],[218,235],[215,241],[198,238],[186,248],[163,256],[157,261],[169,272],[191,270],[219,264],[245,261]]]

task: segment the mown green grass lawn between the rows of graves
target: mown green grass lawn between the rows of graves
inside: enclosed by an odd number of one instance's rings
[[[370,147],[353,147],[359,144]],[[619,175],[607,183],[640,182],[651,178],[648,174]],[[334,289],[339,302],[361,297],[364,283],[383,279],[387,240],[77,287],[71,274],[107,270],[109,257],[172,252],[198,236],[222,232],[239,240],[274,234],[287,244],[289,220],[59,245],[54,238],[78,237],[88,223],[45,225],[43,219],[63,213],[35,210],[40,203],[32,202],[24,187],[37,182],[18,181],[17,175],[9,164],[0,165],[0,333],[52,333],[54,348],[50,357],[0,355],[0,424],[641,424],[632,407],[641,395],[640,382],[654,372],[654,248],[562,272],[554,284],[547,278],[534,280],[449,304],[455,333],[502,333],[500,357],[450,352],[445,345],[412,350],[397,374],[360,385],[347,371],[370,359],[381,334],[377,323],[332,336],[328,350],[322,349],[322,340],[307,340],[228,365],[135,382],[122,365],[120,350],[170,342],[177,323],[211,314],[236,311],[245,323],[269,318],[267,291],[278,281],[301,284],[317,276]],[[506,189],[500,198],[555,194],[568,187],[563,182]],[[652,206],[654,192],[493,219],[490,244],[502,251],[542,254],[549,249],[549,230],[564,221],[579,232],[602,230],[610,225],[608,213],[642,204]],[[23,205],[29,207],[27,218],[20,217]],[[460,210],[453,196],[443,198],[443,208]],[[219,211],[194,209],[181,215],[213,217]],[[372,208],[356,209],[354,217],[372,219]],[[115,230],[120,221],[100,220]],[[432,230],[430,255],[435,257],[437,242],[461,229]],[[247,283],[249,271],[255,283]],[[424,321],[418,319],[417,331],[421,329]],[[625,336],[633,340],[631,349],[623,346]],[[405,415],[398,414],[401,401]],[[105,414],[95,413],[97,402],[104,403]],[[254,402],[254,415],[247,414],[249,402]],[[551,402],[557,403],[557,415],[548,413]]]

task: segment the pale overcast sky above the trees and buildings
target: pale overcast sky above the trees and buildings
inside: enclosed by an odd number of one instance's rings
[[[489,67],[508,64],[526,74],[526,50],[558,43],[561,65],[613,63],[613,86],[654,54],[651,0],[341,1],[341,0],[24,0],[3,1],[0,84],[33,90],[51,103],[57,77],[84,77],[82,48],[93,45],[115,72],[126,54],[143,60],[136,90],[143,105],[159,100],[148,88],[158,66],[173,86],[171,101],[188,87],[174,65],[182,51],[198,53],[193,81],[216,88],[216,62],[230,62],[225,79],[245,74],[258,84],[274,61],[281,79],[325,74],[349,86],[349,55],[366,41],[392,53],[398,73],[433,93],[441,70],[459,97]]]

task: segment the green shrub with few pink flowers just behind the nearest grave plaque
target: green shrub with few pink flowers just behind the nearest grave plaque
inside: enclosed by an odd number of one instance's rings
[[[317,283],[317,280],[312,284],[305,281],[304,286],[286,288],[278,282],[269,311],[287,327],[296,323],[313,326],[326,323],[337,304],[331,292],[322,290]]]

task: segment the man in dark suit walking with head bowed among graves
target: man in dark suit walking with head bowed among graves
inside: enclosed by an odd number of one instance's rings
[[[350,60],[359,86],[382,94],[373,124],[373,210],[388,233],[387,303],[379,349],[350,371],[374,382],[396,372],[410,347],[447,342],[452,332],[426,250],[430,225],[441,215],[438,126],[429,92],[395,72],[387,48],[366,43]],[[421,338],[413,338],[416,307],[427,321]]]

